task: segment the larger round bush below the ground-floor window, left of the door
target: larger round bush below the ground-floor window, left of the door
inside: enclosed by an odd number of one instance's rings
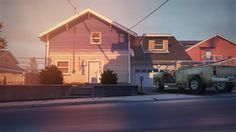
[[[42,69],[39,79],[42,84],[63,84],[63,75],[55,65]]]

